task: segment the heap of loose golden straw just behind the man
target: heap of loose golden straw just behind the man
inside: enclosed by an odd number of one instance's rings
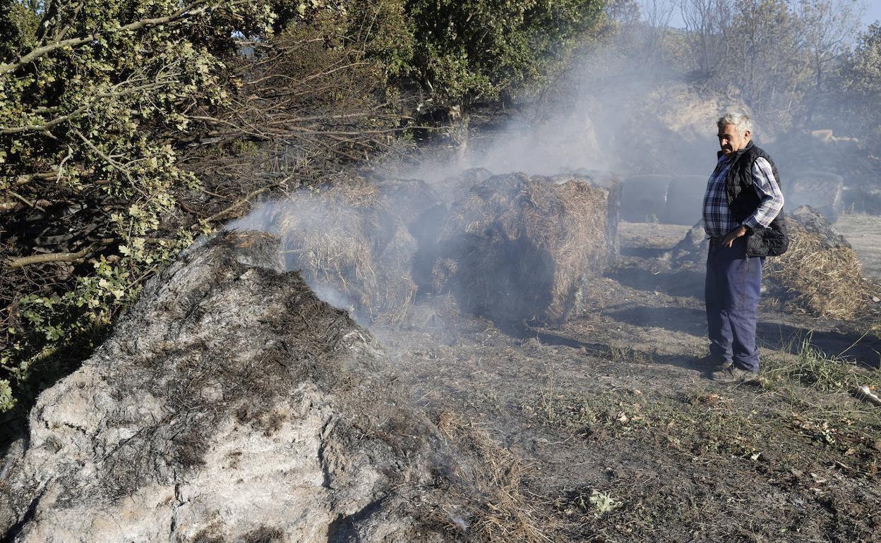
[[[766,275],[804,312],[830,319],[858,319],[870,307],[872,283],[849,247],[829,248],[817,234],[788,222],[789,249],[769,259]]]

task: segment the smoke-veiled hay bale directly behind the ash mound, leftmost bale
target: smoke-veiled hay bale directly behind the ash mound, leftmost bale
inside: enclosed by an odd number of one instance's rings
[[[333,305],[367,322],[401,321],[416,292],[417,243],[380,187],[355,183],[301,193],[273,217],[285,263]]]

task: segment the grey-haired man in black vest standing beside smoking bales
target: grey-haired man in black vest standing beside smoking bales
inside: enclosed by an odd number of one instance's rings
[[[765,257],[786,251],[783,194],[774,162],[751,141],[745,114],[717,122],[718,162],[704,194],[707,255],[707,362],[714,380],[739,382],[759,375],[756,311]]]

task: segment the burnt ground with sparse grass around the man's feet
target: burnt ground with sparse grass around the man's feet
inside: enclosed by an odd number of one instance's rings
[[[877,249],[881,222],[857,218],[841,230]],[[655,260],[685,230],[622,224],[621,261],[561,327],[440,310],[381,342],[415,401],[519,459],[536,540],[881,541],[881,407],[849,393],[881,384],[877,335],[765,299],[761,383],[714,382],[693,367],[702,277]]]

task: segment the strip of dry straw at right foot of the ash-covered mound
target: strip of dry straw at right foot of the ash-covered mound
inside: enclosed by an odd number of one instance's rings
[[[469,473],[478,495],[466,496],[473,539],[488,543],[546,543],[552,519],[540,515],[521,494],[525,467],[510,451],[496,444],[485,430],[445,412],[438,421],[441,434],[460,449],[470,450],[479,465]],[[453,511],[448,511],[452,517]],[[461,529],[462,525],[458,525]],[[470,538],[471,539],[471,538]]]

